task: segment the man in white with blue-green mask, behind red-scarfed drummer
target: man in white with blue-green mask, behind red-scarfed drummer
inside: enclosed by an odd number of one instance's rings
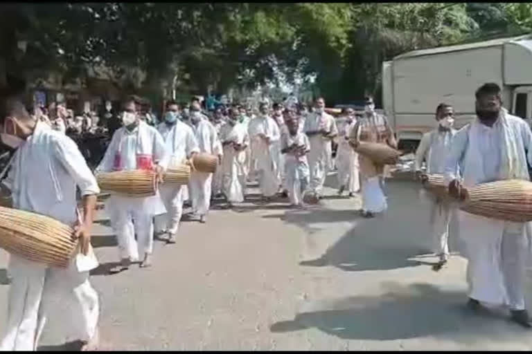
[[[172,168],[193,158],[199,152],[194,131],[188,124],[181,122],[178,117],[179,106],[176,102],[166,103],[164,122],[159,124],[159,132],[163,136],[168,167]],[[167,213],[155,217],[155,230],[159,234],[168,234],[168,243],[175,243],[175,236],[179,230],[179,221],[183,214],[184,189],[186,185],[161,185],[159,192]]]

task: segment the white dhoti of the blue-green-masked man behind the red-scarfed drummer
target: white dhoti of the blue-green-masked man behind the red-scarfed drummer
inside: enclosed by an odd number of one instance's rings
[[[168,232],[169,234],[177,234],[179,229],[179,221],[183,214],[184,190],[186,185],[161,185],[159,193],[161,200],[166,207],[166,214],[155,216],[155,230],[156,232]]]

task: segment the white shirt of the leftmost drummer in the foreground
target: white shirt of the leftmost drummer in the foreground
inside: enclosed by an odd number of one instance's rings
[[[36,212],[73,225],[76,214],[76,186],[82,196],[98,194],[96,178],[78,146],[44,122],[15,152],[4,184],[11,189],[13,207]]]

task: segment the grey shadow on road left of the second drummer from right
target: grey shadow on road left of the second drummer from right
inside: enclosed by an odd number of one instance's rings
[[[351,223],[351,229],[318,259],[300,264],[321,267],[332,265],[346,271],[391,270],[413,267],[427,262],[412,258],[432,252],[429,229],[429,201],[419,198],[419,187],[413,183],[387,183],[389,209],[375,218],[362,218],[354,209],[326,209],[318,207],[301,212],[267,215],[281,218],[305,229],[309,236],[322,239],[326,229],[337,223]],[[322,232],[324,231],[324,232]],[[453,248],[454,236],[450,246]],[[429,263],[432,265],[432,263]]]

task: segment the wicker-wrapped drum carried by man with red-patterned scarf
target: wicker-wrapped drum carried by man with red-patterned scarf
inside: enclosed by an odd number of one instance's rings
[[[135,169],[116,171],[96,176],[102,192],[110,192],[132,197],[154,196],[157,194],[155,173],[150,170]]]

